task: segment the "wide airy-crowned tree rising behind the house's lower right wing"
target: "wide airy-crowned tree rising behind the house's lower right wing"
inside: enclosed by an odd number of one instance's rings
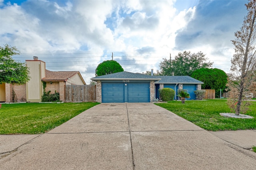
[[[190,51],[184,51],[178,53],[174,60],[164,58],[159,67],[164,76],[191,76],[197,69],[212,66],[213,62],[207,62],[207,59],[201,51],[193,54]]]

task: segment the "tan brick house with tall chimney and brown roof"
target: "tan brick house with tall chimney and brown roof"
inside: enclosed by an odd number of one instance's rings
[[[26,60],[26,66],[30,71],[30,81],[22,85],[1,84],[0,102],[12,102],[13,91],[16,93],[17,102],[41,102],[43,95],[42,81],[46,82],[46,92],[59,92],[60,100],[64,101],[65,85],[86,84],[79,71],[46,70],[45,62],[38,60],[38,57],[34,57],[34,60]]]

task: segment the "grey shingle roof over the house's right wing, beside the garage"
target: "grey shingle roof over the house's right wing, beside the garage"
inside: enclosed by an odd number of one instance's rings
[[[155,76],[161,78],[155,84],[204,84],[190,76]]]

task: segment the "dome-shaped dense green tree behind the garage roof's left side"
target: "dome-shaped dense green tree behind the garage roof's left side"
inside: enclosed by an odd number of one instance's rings
[[[124,69],[122,68],[122,66],[120,66],[119,63],[114,60],[107,60],[103,61],[97,66],[95,70],[95,76],[102,76],[122,71],[124,71]]]

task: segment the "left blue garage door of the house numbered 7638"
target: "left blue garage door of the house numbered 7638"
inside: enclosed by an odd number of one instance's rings
[[[124,83],[102,83],[102,103],[124,102]]]

